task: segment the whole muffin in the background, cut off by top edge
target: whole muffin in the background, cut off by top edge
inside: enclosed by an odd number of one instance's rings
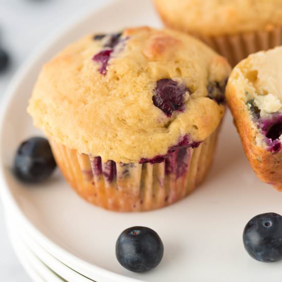
[[[282,0],[154,0],[165,25],[188,32],[232,66],[282,44]]]

